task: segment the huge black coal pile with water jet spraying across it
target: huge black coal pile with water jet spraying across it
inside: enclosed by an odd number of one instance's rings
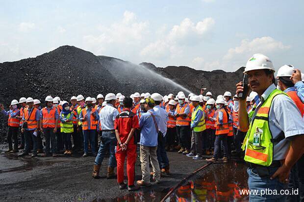
[[[182,66],[160,68],[152,63],[135,65],[96,56],[74,46],[62,46],[35,58],[0,63],[0,72],[0,102],[6,109],[13,99],[32,97],[43,102],[48,95],[69,100],[78,94],[87,97],[109,92],[199,93],[202,85],[214,94],[223,94],[225,90],[234,92],[236,81],[242,79],[241,69],[226,73]],[[6,121],[0,115],[0,142],[6,133]]]

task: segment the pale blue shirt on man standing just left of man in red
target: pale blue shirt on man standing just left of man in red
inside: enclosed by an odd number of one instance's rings
[[[112,104],[106,104],[99,112],[102,130],[114,130],[114,121],[119,114]]]

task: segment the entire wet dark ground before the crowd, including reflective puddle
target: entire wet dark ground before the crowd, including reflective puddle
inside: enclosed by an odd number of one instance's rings
[[[23,157],[16,154],[0,154],[0,201],[88,201],[88,202],[159,202],[173,191],[167,201],[197,199],[198,201],[220,200],[220,193],[230,201],[246,201],[234,193],[247,188],[246,168],[243,164],[212,164],[189,178],[182,189],[172,190],[194,170],[207,162],[193,160],[177,152],[168,152],[171,175],[161,178],[161,184],[141,188],[130,193],[118,189],[116,179],[106,179],[106,164],[101,166],[101,178],[93,179],[94,157]],[[237,166],[236,166],[237,165]],[[141,179],[139,162],[135,166],[135,180]],[[206,183],[208,186],[206,186]],[[208,184],[209,183],[209,184]],[[182,190],[182,192],[181,192]]]

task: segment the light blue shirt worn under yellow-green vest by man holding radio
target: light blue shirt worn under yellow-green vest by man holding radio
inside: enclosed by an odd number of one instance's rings
[[[274,84],[270,85],[262,94],[257,107],[253,113],[255,117],[258,109],[268,96],[276,89]],[[280,132],[284,132],[285,139],[274,146],[273,159],[282,160],[286,158],[290,142],[295,135],[304,134],[304,120],[301,117],[298,107],[288,96],[278,95],[274,98],[269,111],[269,128],[274,139]]]

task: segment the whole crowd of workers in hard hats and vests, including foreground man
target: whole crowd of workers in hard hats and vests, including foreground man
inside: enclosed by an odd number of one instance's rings
[[[0,105],[2,113],[8,116],[9,149],[5,152],[23,149],[18,156],[25,156],[32,149],[32,157],[38,152],[53,157],[61,151],[65,155],[83,152],[83,157],[91,153],[96,156],[94,178],[99,177],[108,152],[107,178],[114,176],[117,167],[119,188],[130,191],[139,189],[137,185],[150,186],[151,176],[159,183],[161,174],[170,174],[167,151],[177,151],[194,160],[203,159],[204,154],[212,155],[205,160],[224,163],[231,156],[244,156],[251,169],[250,179],[277,177],[278,181],[273,180],[268,186],[289,181],[299,187],[304,178],[298,176],[296,163],[301,156],[303,163],[304,153],[303,145],[298,145],[304,143],[303,78],[292,65],[284,65],[277,73],[276,87],[274,72],[268,57],[255,54],[244,72],[252,92],[249,94],[247,86],[240,82],[236,95],[227,91],[216,99],[202,89],[200,95],[188,96],[183,92],[176,96],[136,92],[130,97],[108,93],[105,97],[99,94],[97,99],[78,95],[70,103],[47,96],[43,108],[39,100],[32,98],[13,100],[9,111]],[[245,99],[238,96],[240,93],[246,94]],[[134,165],[138,147],[142,179],[136,185]],[[257,185],[251,183],[249,187],[254,189]]]

